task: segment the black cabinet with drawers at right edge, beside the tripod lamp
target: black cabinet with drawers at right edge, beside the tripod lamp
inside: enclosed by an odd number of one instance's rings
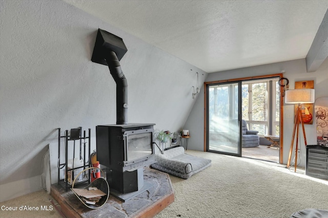
[[[305,174],[319,179],[328,179],[328,147],[306,146]]]

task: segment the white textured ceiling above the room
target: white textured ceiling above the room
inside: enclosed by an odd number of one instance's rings
[[[64,1],[206,72],[305,58],[328,8],[328,0]]]

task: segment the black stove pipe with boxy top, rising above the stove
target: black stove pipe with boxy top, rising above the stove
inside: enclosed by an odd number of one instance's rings
[[[91,61],[108,65],[116,82],[116,124],[128,124],[128,82],[119,61],[127,52],[123,40],[107,31],[98,29]]]

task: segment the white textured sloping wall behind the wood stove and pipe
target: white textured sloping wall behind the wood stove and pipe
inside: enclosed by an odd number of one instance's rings
[[[0,9],[0,201],[13,196],[9,183],[40,175],[56,128],[91,128],[94,137],[96,125],[116,123],[116,84],[90,61],[98,28],[128,48],[120,63],[129,123],[185,124],[196,71],[200,84],[205,72],[62,1],[0,1]]]

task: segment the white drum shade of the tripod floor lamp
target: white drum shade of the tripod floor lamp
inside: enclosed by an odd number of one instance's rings
[[[286,104],[310,104],[314,103],[314,89],[289,89],[285,92]]]

